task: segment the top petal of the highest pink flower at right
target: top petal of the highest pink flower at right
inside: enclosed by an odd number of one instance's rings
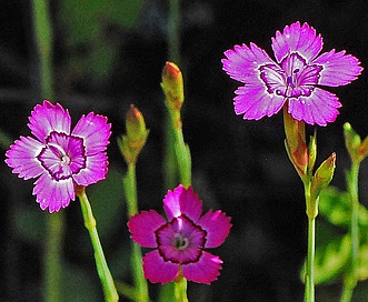
[[[300,27],[300,22],[286,26],[284,32],[276,32],[276,37],[271,38],[275,58],[278,62],[292,53],[298,52],[307,62],[316,58],[322,49],[322,38],[320,34],[316,37],[316,30],[308,23]]]

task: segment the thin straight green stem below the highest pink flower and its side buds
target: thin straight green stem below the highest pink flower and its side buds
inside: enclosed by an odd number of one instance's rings
[[[318,200],[310,194],[311,181],[306,180],[305,195],[308,215],[308,252],[305,276],[305,302],[315,302],[315,250],[316,250],[316,217],[318,214]]]

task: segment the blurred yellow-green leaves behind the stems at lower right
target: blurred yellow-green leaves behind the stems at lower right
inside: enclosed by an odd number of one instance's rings
[[[316,249],[316,284],[338,281],[350,265],[351,238],[348,232],[351,219],[350,204],[348,192],[337,188],[328,187],[320,193],[319,214],[326,221],[319,222],[320,226],[317,231],[319,243]],[[361,204],[359,229],[358,278],[362,281],[368,279],[368,210]]]

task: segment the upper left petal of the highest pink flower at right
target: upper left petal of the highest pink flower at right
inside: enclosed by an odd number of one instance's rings
[[[250,48],[246,44],[235,46],[233,50],[227,50],[225,56],[228,59],[221,60],[222,69],[230,78],[243,83],[259,82],[260,66],[275,64],[266,51],[253,43],[250,43]]]

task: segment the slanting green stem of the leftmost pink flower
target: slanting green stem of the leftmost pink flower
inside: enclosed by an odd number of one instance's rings
[[[92,208],[86,195],[84,188],[81,190],[81,193],[79,193],[78,197],[79,197],[80,207],[82,210],[84,226],[88,230],[89,235],[91,238],[91,243],[92,243],[93,251],[95,251],[97,272],[98,272],[99,278],[102,283],[105,301],[107,301],[107,302],[119,301],[119,295],[118,295],[117,289],[115,286],[110,270],[106,262],[101,242],[100,242],[100,239],[99,239],[99,235],[97,232],[96,219],[92,213]]]

